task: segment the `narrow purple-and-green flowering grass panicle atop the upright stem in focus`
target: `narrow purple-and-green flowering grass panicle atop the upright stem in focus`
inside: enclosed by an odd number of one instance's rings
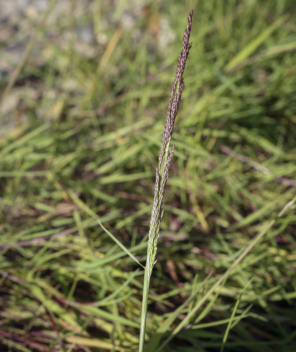
[[[159,237],[159,227],[163,216],[163,196],[166,181],[169,177],[169,171],[172,164],[172,159],[174,156],[174,147],[170,150],[170,142],[172,137],[172,132],[174,128],[174,123],[178,108],[181,101],[182,91],[184,89],[183,73],[185,68],[185,63],[188,57],[189,49],[192,43],[189,44],[189,36],[191,31],[193,10],[189,12],[187,19],[187,28],[183,37],[183,49],[180,52],[177,72],[175,81],[172,85],[171,95],[168,107],[168,116],[166,117],[163,137],[162,137],[162,147],[159,154],[158,168],[156,169],[156,182],[155,182],[155,193],[153,200],[153,207],[150,220],[149,229],[149,240],[148,240],[148,250],[147,250],[147,263],[146,268],[149,269],[149,277],[153,265],[155,264],[155,256],[157,251],[157,241]]]

